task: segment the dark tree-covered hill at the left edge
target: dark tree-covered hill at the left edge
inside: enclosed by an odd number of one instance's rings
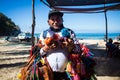
[[[17,36],[20,32],[19,26],[0,12],[0,36]]]

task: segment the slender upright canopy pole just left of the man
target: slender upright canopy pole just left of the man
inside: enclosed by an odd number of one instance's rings
[[[35,10],[34,10],[34,0],[32,0],[32,46],[35,45],[34,40],[34,30],[35,30]]]

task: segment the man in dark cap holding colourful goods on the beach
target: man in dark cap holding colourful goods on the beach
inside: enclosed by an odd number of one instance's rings
[[[64,27],[62,17],[62,12],[56,10],[50,11],[48,15],[48,24],[50,27],[40,35],[40,40],[42,44],[44,44],[44,47],[40,50],[40,54],[47,57],[47,61],[53,70],[54,80],[69,80],[65,72],[69,51],[67,47],[61,46],[61,41],[66,40],[70,42],[68,38],[74,39],[75,37],[71,29]],[[57,40],[55,40],[56,44],[46,45],[45,39],[53,36],[57,36]],[[73,42],[71,41],[70,43],[71,44],[65,43],[64,46],[70,46]]]

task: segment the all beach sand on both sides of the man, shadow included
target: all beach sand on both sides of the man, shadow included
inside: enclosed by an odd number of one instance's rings
[[[104,40],[79,40],[95,55],[97,80],[120,80],[120,58],[106,57]],[[16,76],[28,60],[31,43],[0,40],[0,80],[19,80]]]

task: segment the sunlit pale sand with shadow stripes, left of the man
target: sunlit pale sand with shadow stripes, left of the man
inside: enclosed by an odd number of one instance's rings
[[[0,80],[19,80],[17,74],[28,60],[30,43],[0,40]]]

